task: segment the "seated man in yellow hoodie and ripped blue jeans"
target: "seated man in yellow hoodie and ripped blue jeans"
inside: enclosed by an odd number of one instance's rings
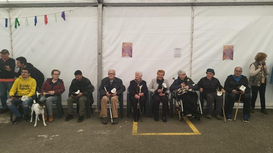
[[[23,120],[23,117],[15,104],[23,104],[24,119],[25,121],[30,120],[29,103],[33,102],[33,96],[36,90],[36,81],[30,77],[30,73],[31,72],[27,67],[22,68],[21,75],[15,80],[9,92],[11,98],[7,100],[7,106],[16,115],[16,119],[12,121],[12,124],[16,124]],[[22,101],[21,98],[14,97],[16,93],[18,96],[28,96],[28,98],[25,101]]]

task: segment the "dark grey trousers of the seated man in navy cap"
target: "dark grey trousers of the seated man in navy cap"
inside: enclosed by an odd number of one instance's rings
[[[214,114],[220,115],[222,110],[222,105],[224,102],[223,96],[217,96],[217,93],[206,93],[206,100],[207,100],[207,109],[206,113],[211,114],[212,113],[212,105],[214,103],[214,100],[216,101],[216,106]]]

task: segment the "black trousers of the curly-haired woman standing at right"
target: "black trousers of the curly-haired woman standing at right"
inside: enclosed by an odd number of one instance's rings
[[[266,84],[261,83],[260,87],[256,86],[251,86],[251,108],[255,108],[255,102],[258,96],[258,91],[260,94],[260,101],[261,101],[261,108],[266,109],[266,98],[265,98],[265,93],[266,93]]]

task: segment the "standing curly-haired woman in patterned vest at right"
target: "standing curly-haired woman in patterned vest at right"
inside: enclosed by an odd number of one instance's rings
[[[257,99],[258,92],[260,94],[262,113],[268,114],[266,111],[266,75],[269,75],[269,70],[266,66],[266,53],[259,52],[255,56],[255,62],[250,65],[249,68],[249,84],[251,85],[251,109],[250,112],[254,113],[255,102]]]

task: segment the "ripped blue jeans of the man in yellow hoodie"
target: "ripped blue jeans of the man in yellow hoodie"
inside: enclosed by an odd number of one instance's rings
[[[15,100],[7,100],[7,106],[11,110],[12,113],[14,113],[17,117],[20,117],[21,114],[19,113],[16,104],[23,104],[24,108],[24,114],[28,115],[29,114],[29,104],[33,102],[33,97],[29,97],[27,100],[22,101],[20,99],[15,99]]]

